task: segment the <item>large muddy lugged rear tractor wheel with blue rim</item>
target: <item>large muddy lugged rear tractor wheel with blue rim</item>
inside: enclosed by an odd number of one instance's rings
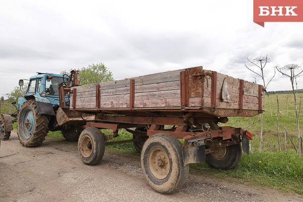
[[[46,115],[38,114],[35,100],[26,101],[18,116],[18,138],[25,147],[39,146],[48,133],[49,119]]]

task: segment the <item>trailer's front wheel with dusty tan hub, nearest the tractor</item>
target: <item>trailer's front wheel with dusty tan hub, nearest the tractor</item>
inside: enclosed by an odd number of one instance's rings
[[[81,160],[87,165],[99,163],[104,155],[105,141],[100,130],[94,127],[84,129],[78,139]]]

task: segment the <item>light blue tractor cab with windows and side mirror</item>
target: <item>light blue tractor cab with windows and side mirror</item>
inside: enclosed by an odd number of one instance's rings
[[[60,83],[67,83],[67,74],[38,73],[31,76],[24,97],[18,98],[18,110],[26,100],[35,98],[38,102],[50,103],[53,106],[59,105]],[[19,85],[23,86],[23,80],[19,80]],[[68,102],[68,97],[66,98]]]

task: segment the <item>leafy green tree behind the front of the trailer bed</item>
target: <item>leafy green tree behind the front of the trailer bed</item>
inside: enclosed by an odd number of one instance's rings
[[[63,71],[61,73],[67,73]],[[107,69],[103,63],[91,64],[88,67],[82,67],[78,70],[78,79],[80,85],[113,81],[113,73]]]

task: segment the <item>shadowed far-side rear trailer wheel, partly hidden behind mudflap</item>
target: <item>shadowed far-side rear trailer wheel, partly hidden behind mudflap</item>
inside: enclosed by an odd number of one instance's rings
[[[216,148],[215,152],[206,155],[206,162],[213,168],[229,170],[238,165],[241,154],[240,144]]]

